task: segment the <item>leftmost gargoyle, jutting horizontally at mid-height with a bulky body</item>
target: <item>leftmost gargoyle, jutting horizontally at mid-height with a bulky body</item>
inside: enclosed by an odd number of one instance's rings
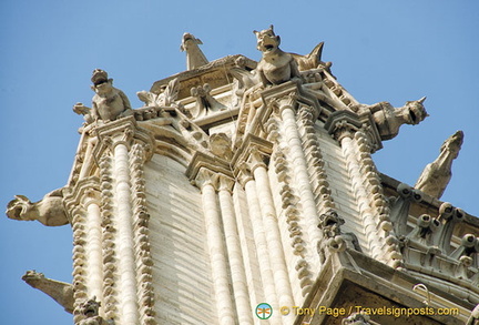
[[[69,223],[63,206],[63,189],[54,190],[38,202],[30,202],[27,196],[16,195],[7,205],[7,216],[13,220],[38,220],[48,226],[59,226]]]

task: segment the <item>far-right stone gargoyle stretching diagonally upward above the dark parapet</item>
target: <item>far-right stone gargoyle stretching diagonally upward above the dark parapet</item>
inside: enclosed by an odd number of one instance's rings
[[[434,197],[441,197],[452,176],[452,161],[459,155],[462,141],[462,131],[449,136],[442,143],[439,156],[425,167],[415,187]]]

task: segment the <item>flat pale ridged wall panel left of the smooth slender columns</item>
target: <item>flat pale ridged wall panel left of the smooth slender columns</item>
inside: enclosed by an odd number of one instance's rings
[[[215,313],[201,194],[184,171],[161,155],[145,165],[159,324],[207,324]]]

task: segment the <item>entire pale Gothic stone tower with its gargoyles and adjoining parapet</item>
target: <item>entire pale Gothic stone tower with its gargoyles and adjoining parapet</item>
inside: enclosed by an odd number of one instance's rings
[[[73,283],[24,280],[75,324],[476,324],[479,223],[439,201],[461,133],[415,187],[390,179],[371,153],[424,99],[360,104],[323,43],[255,33],[259,62],[185,33],[188,70],[140,109],[93,72],[67,185],[7,211],[72,227]]]

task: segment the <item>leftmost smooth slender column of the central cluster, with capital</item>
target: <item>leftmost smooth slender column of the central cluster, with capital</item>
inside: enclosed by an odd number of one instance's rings
[[[220,324],[235,324],[234,305],[230,291],[226,250],[223,242],[222,221],[216,200],[215,173],[201,167],[195,183],[201,189],[205,216],[206,238],[210,248],[213,286]]]

